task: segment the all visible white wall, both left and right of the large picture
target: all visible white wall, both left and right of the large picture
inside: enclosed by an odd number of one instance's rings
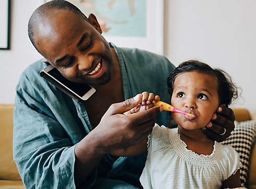
[[[27,24],[42,3],[12,0],[11,50],[0,50],[0,103],[14,103],[21,72],[41,58],[29,41]],[[254,0],[164,0],[165,56],[175,65],[198,59],[226,70],[243,90],[244,102],[234,106],[251,112],[256,110],[255,9]]]

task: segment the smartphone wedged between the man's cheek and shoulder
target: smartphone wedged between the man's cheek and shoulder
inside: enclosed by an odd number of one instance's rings
[[[48,82],[56,86],[59,90],[62,90],[66,95],[75,99],[77,102],[84,102],[89,99],[96,91],[88,84],[78,84],[70,82],[52,65],[46,66],[40,75]]]

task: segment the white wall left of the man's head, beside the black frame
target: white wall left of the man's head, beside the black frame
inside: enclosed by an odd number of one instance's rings
[[[11,0],[10,50],[0,50],[1,104],[14,103],[20,74],[29,64],[41,58],[29,40],[27,26],[32,12],[42,3],[42,0]]]

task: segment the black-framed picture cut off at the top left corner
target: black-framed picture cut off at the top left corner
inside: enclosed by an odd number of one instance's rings
[[[10,49],[10,0],[0,1],[0,49]]]

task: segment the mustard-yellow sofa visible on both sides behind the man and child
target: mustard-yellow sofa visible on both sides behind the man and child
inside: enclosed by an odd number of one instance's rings
[[[14,105],[0,104],[0,188],[25,188],[13,160],[13,109]],[[246,109],[233,109],[236,120],[256,120],[256,112],[250,116]],[[256,189],[256,145],[252,147],[248,187]]]

